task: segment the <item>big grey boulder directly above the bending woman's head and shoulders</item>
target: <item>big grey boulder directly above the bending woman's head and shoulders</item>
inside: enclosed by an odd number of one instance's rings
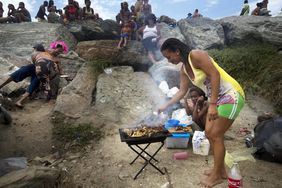
[[[178,26],[191,50],[220,48],[224,44],[223,28],[212,19],[206,17],[181,19]]]

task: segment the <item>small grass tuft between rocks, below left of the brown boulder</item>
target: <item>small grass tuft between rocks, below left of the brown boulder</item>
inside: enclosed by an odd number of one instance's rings
[[[100,73],[104,72],[104,69],[107,67],[114,67],[117,66],[116,62],[112,62],[112,60],[106,60],[106,59],[89,59],[88,60],[88,68],[91,72],[97,73],[98,75]]]

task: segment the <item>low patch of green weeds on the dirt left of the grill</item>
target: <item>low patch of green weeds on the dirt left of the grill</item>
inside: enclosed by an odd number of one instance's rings
[[[73,142],[75,145],[73,149],[83,150],[83,146],[89,143],[89,140],[98,142],[105,136],[105,132],[101,130],[105,124],[99,127],[93,127],[88,123],[73,124],[65,122],[64,116],[57,116],[51,119],[53,124],[53,133],[57,136],[58,140],[64,142]]]

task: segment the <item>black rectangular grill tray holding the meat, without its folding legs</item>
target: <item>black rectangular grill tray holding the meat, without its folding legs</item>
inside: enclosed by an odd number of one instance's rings
[[[136,128],[140,128],[140,127],[128,127],[127,129],[136,129]],[[148,136],[142,136],[142,137],[133,137],[133,138],[129,138],[128,135],[123,132],[122,130],[124,129],[119,129],[119,133],[120,133],[120,140],[121,142],[126,142],[128,144],[128,142],[136,142],[136,141],[140,141],[140,142],[145,142],[145,143],[152,143],[155,142],[156,140],[159,141],[159,138],[164,138],[163,140],[166,139],[166,137],[172,136],[172,134],[168,131],[166,132],[157,132],[154,133],[152,136],[148,137]]]

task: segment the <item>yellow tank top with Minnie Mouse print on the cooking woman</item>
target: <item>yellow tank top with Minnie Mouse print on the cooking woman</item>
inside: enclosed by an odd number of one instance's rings
[[[192,51],[191,51],[192,52]],[[187,74],[187,70],[185,68],[185,65],[183,65],[183,69],[185,74],[189,77],[189,79],[192,81],[192,83],[201,88],[204,93],[210,98],[211,97],[211,77],[208,76],[206,73],[204,73],[201,69],[196,69],[193,67],[190,54],[189,53],[189,64],[193,70],[193,73],[195,75],[194,79],[191,79],[190,76]],[[219,96],[217,100],[217,105],[225,104],[225,103],[238,103],[238,97],[237,92],[239,92],[243,98],[245,98],[244,91],[239,85],[239,83],[234,80],[229,74],[227,74],[221,67],[217,65],[217,63],[212,59],[212,63],[216,67],[216,69],[220,73],[220,88],[219,88]]]

